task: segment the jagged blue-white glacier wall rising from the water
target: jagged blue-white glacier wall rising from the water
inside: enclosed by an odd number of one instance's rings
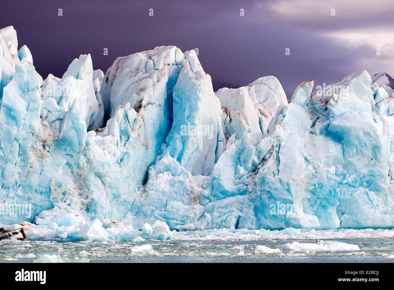
[[[93,240],[394,228],[386,73],[358,71],[316,91],[309,80],[288,101],[273,76],[214,92],[195,51],[175,46],[119,57],[105,74],[81,55],[45,80],[17,47],[13,27],[1,29],[4,225]]]

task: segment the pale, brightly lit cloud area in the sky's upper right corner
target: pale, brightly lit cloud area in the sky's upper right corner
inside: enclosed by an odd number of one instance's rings
[[[333,53],[338,59],[346,55],[355,69],[394,73],[392,0],[279,0],[258,2],[257,7],[269,9],[273,21],[289,29],[305,31],[305,38],[326,41],[335,47]]]

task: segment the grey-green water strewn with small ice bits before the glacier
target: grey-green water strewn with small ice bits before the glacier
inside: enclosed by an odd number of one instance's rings
[[[335,241],[335,240],[332,240]],[[393,239],[357,239],[341,242],[359,246],[359,251],[284,251],[292,241],[145,241],[145,242],[0,242],[0,262],[33,262],[43,255],[64,262],[394,262]],[[314,241],[299,241],[315,243]],[[280,253],[256,254],[257,245],[281,249]],[[34,256],[33,256],[34,255]],[[393,256],[392,256],[393,257]],[[9,258],[17,260],[7,261]],[[44,257],[45,258],[45,257]],[[43,262],[45,262],[43,260]]]

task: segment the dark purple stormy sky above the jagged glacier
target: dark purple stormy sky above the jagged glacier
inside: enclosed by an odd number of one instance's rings
[[[198,48],[215,91],[273,75],[290,99],[305,80],[316,88],[361,69],[394,75],[392,0],[14,0],[0,15],[43,79],[80,54],[105,73],[117,57],[161,45]]]

